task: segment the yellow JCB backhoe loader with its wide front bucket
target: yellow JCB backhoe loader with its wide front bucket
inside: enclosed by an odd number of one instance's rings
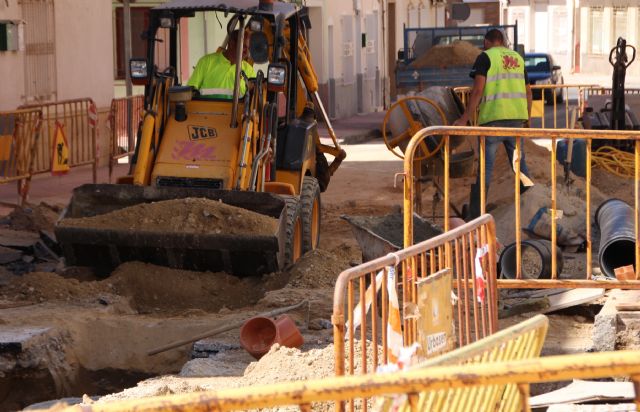
[[[236,61],[242,60],[245,35],[250,39],[257,75],[248,79],[236,65],[228,98],[208,97],[178,81],[190,63],[179,33],[188,31],[191,19],[211,16],[227,20],[223,45],[237,33]],[[309,28],[305,8],[273,0],[174,0],[152,9],[144,34],[147,56],[130,62],[134,83],[145,85],[130,174],[115,185],[77,188],[63,216],[64,221],[143,202],[201,197],[278,219],[273,236],[59,224],[56,235],[67,264],[106,273],[138,260],[244,276],[282,269],[316,248],[320,192],[346,155],[318,97]],[[244,94],[241,82],[248,85]],[[321,143],[317,115],[332,145]],[[325,154],[333,157],[331,164]]]

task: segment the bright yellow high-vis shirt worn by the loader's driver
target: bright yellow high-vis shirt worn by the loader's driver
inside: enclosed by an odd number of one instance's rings
[[[242,62],[242,70],[248,78],[256,77],[253,66],[246,61]],[[235,78],[236,65],[231,64],[222,52],[216,52],[200,58],[187,84],[199,89],[203,96],[230,99],[233,97]],[[240,79],[240,95],[246,91],[247,85]]]

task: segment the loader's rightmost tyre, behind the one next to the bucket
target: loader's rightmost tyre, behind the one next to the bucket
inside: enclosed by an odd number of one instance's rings
[[[302,212],[302,253],[318,247],[320,242],[320,184],[318,179],[305,176],[300,190],[300,209]]]

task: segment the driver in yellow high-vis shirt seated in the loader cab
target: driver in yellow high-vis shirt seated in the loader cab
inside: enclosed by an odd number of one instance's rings
[[[234,30],[229,35],[229,42],[224,50],[202,56],[198,61],[187,84],[199,89],[200,95],[225,99],[233,97],[239,34],[239,30]],[[256,77],[256,72],[253,66],[244,60],[248,56],[249,41],[249,35],[245,32],[242,44],[242,71],[247,78],[253,78]],[[242,96],[247,90],[247,85],[242,78],[239,81]]]

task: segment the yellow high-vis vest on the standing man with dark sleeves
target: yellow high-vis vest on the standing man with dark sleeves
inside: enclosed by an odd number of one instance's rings
[[[496,120],[527,120],[524,59],[506,47],[485,51],[491,61],[480,101],[478,124]]]

